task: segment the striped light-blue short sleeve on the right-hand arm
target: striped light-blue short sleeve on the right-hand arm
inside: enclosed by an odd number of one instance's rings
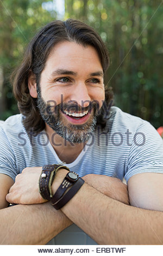
[[[139,173],[163,174],[163,140],[147,121],[137,128],[131,143],[127,172],[124,178]]]

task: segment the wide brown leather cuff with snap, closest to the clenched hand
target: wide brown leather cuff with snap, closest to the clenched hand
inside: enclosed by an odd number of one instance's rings
[[[62,166],[62,164],[46,164],[42,167],[42,172],[39,179],[39,192],[43,199],[51,200],[53,197],[52,183],[57,170],[60,168],[70,171],[68,167]]]

